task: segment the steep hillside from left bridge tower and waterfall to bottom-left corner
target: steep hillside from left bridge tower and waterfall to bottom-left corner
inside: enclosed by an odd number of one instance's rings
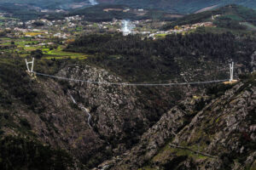
[[[160,99],[137,88],[32,78],[23,59],[2,56],[0,65],[0,164],[6,169],[96,166],[137,144],[175,103],[175,96]],[[123,82],[83,63],[40,60],[35,65],[36,71],[60,77]],[[41,161],[47,161],[45,167]]]

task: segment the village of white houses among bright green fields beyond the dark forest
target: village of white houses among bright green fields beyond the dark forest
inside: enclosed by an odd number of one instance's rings
[[[63,49],[76,37],[83,34],[120,32],[125,36],[140,34],[143,37],[157,39],[166,37],[168,34],[184,34],[195,31],[201,26],[214,26],[212,21],[207,21],[194,25],[175,26],[171,30],[160,31],[160,27],[164,24],[166,22],[153,20],[113,19],[90,22],[84,20],[84,15],[68,16],[64,20],[43,18],[23,22],[0,14],[0,49],[1,54],[16,54],[21,57],[26,57],[32,51],[39,49],[46,59],[86,59],[87,56],[84,54],[64,52]]]

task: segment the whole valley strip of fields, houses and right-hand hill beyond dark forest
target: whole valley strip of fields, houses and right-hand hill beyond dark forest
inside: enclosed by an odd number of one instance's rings
[[[233,7],[229,10],[221,8],[192,14],[177,21],[163,20],[125,20],[129,34],[138,34],[143,38],[162,39],[170,34],[189,34],[193,32],[224,33],[231,31],[240,34],[255,34],[256,27],[245,16],[255,14],[245,8]],[[105,8],[101,8],[105,12]],[[128,10],[128,9],[127,9]],[[137,11],[136,9],[133,9]],[[229,11],[221,13],[220,11]],[[144,13],[145,11],[143,11]],[[108,13],[108,12],[105,12]],[[137,11],[139,13],[139,11]],[[86,21],[84,15],[67,16],[63,19],[26,20],[0,14],[0,54],[15,55],[18,57],[31,57],[32,52],[42,52],[43,59],[88,59],[96,54],[80,54],[65,49],[75,39],[90,34],[116,34],[122,33],[124,20]],[[233,29],[236,27],[236,29]],[[124,32],[123,32],[124,33]]]

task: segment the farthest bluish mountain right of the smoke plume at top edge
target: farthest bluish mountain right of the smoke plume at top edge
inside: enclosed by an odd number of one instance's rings
[[[134,8],[160,8],[177,13],[195,13],[202,8],[219,7],[235,3],[256,8],[254,0],[98,0],[99,3],[126,4]]]

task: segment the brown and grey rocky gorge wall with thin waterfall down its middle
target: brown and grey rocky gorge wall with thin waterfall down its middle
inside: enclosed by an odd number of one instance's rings
[[[122,82],[108,71],[81,64],[66,65],[56,76]],[[26,87],[35,97],[27,97],[32,99],[29,105],[13,104],[9,115],[14,116],[15,124],[26,120],[33,139],[66,150],[86,167],[124,153],[166,110],[158,100],[145,100],[139,89],[123,85],[63,81],[38,75]],[[3,131],[6,136],[31,137],[18,128],[7,126]]]

